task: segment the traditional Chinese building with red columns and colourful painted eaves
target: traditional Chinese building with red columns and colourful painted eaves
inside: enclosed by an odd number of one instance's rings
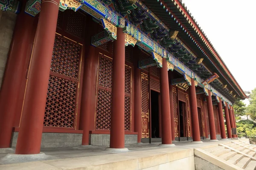
[[[247,96],[180,0],[1,0],[0,9],[9,51],[0,148],[232,138],[232,103]]]

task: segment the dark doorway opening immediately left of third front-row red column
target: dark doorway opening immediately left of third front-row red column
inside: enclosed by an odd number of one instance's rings
[[[160,138],[159,93],[151,92],[151,138]]]

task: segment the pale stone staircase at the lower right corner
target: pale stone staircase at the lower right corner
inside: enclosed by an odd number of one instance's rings
[[[199,149],[199,151],[221,161],[220,164],[226,164],[225,168],[222,167],[223,169],[227,169],[227,166],[230,166],[228,169],[256,170],[256,146],[252,144],[234,141],[217,144],[217,146],[203,148],[202,150]],[[211,163],[215,164],[216,160],[212,160]]]

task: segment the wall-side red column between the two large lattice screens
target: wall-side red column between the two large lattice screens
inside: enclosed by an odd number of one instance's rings
[[[94,59],[95,56],[95,47],[89,46],[88,55],[85,57],[84,63],[84,77],[83,77],[83,88],[82,88],[82,96],[81,96],[81,113],[80,113],[80,124],[79,129],[83,130],[82,137],[82,145],[89,144],[89,127],[90,127],[90,113],[92,111],[91,108],[91,98],[92,91],[93,76],[94,73]],[[94,112],[93,112],[94,113]]]

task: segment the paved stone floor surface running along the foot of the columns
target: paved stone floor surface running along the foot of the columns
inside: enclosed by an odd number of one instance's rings
[[[174,144],[176,145],[175,147],[160,147],[158,146],[160,143],[133,144],[125,146],[129,149],[129,151],[125,153],[106,152],[106,147],[96,146],[42,149],[41,152],[45,153],[45,156],[38,160],[30,160],[30,162],[29,160],[6,160],[5,157],[8,153],[3,153],[3,150],[0,150],[0,170],[22,170],[23,168],[24,170],[30,170],[29,166],[33,167],[35,164],[39,164],[40,166],[38,166],[42,167],[42,169],[45,170],[70,169],[71,167],[85,166],[85,162],[87,162],[86,166],[88,166],[103,164],[111,161],[122,161],[125,158],[128,159],[128,157],[134,156],[137,158],[160,153],[170,153],[185,150],[190,152],[191,150],[193,150],[193,148],[204,147],[207,145],[217,143],[225,143],[229,141],[231,140],[219,140],[218,142],[204,140],[203,143],[193,143],[191,141],[174,142]],[[9,153],[14,153],[14,150]],[[81,161],[83,163],[81,163]],[[66,164],[65,166],[62,166],[67,162],[70,163]],[[49,165],[51,165],[52,167],[50,166],[48,168],[47,166]],[[41,170],[39,167],[36,168],[36,170]]]

